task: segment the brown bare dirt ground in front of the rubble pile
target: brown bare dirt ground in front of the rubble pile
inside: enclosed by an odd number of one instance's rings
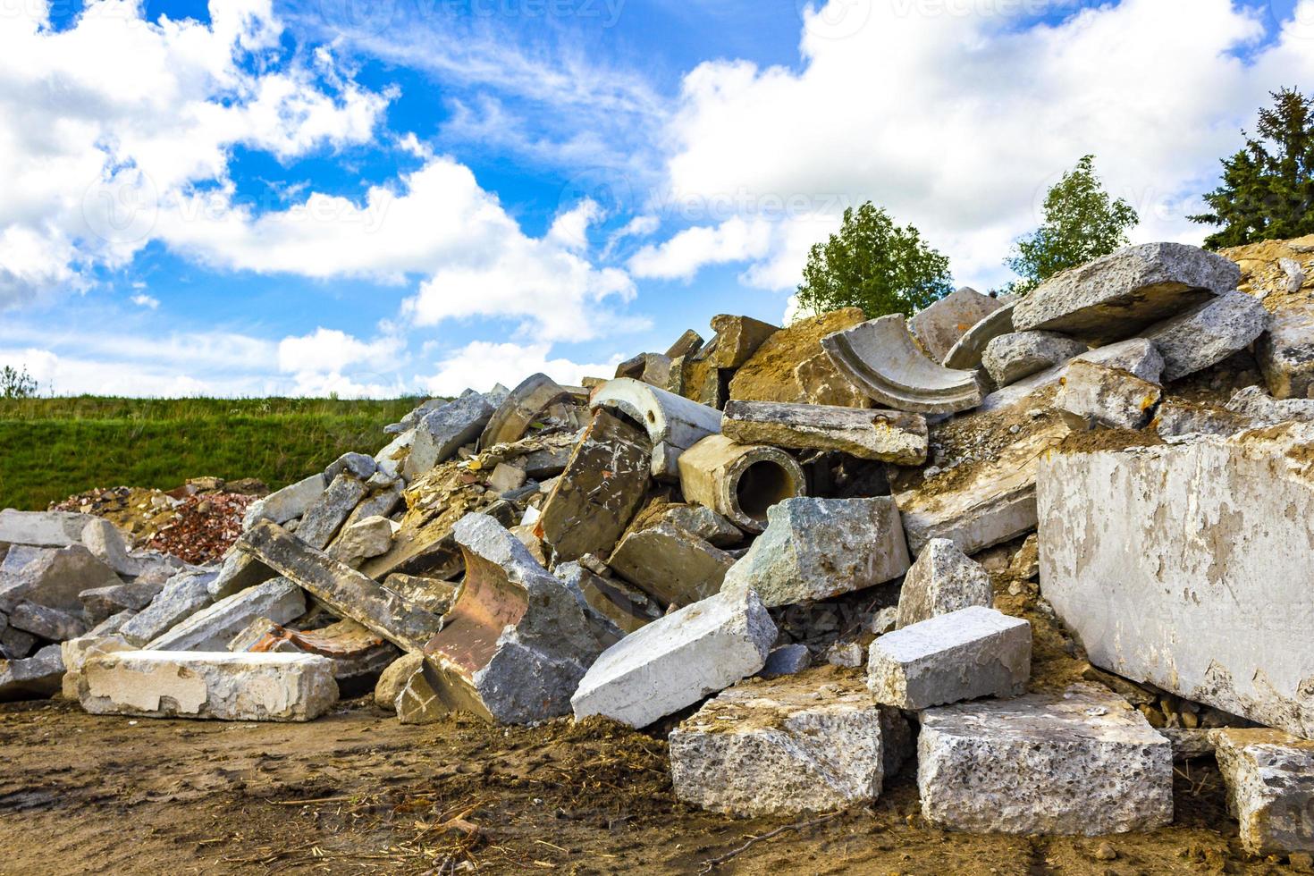
[[[1026,839],[926,829],[912,776],[870,809],[787,829],[720,873],[1290,872],[1236,844],[1217,772],[1179,776],[1179,823]],[[607,724],[406,728],[368,700],[313,724],[129,721],[0,707],[0,875],[696,873],[794,818],[735,821],[670,791],[665,745]],[[473,831],[473,833],[470,833]],[[1097,858],[1101,844],[1117,852]],[[1105,852],[1106,856],[1106,852]]]

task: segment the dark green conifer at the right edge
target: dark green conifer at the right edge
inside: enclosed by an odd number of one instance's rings
[[[1205,196],[1210,213],[1192,222],[1222,226],[1212,250],[1314,232],[1314,99],[1294,88],[1272,92],[1246,147],[1222,159],[1222,184]]]

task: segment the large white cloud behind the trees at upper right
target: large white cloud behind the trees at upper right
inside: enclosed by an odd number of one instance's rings
[[[1230,0],[1122,0],[1030,28],[1008,14],[1035,5],[830,0],[808,17],[802,70],[700,64],[669,129],[671,198],[738,208],[635,269],[689,276],[738,255],[750,282],[788,288],[808,244],[871,198],[920,226],[961,278],[1000,278],[1045,189],[1088,152],[1141,211],[1139,239],[1196,242],[1183,217],[1239,129],[1268,91],[1314,80],[1314,33],[1298,24],[1314,0],[1261,47],[1260,11]],[[812,206],[767,215],[800,201]],[[742,217],[782,226],[767,252],[733,246]]]

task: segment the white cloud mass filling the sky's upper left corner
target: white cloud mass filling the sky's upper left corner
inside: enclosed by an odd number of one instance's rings
[[[234,146],[286,159],[371,137],[386,99],[327,54],[285,62],[271,0],[214,0],[210,18],[148,22],[135,1],[89,0],[55,30],[46,0],[8,4],[0,306],[130,261],[163,205],[226,180]]]

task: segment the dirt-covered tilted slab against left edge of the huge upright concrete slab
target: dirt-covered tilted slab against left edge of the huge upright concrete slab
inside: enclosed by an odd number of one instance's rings
[[[932,538],[949,538],[971,556],[1035,529],[1039,460],[1068,433],[1071,428],[1062,422],[1046,426],[1004,449],[997,460],[972,464],[900,493],[895,502],[908,549],[920,554]]]

